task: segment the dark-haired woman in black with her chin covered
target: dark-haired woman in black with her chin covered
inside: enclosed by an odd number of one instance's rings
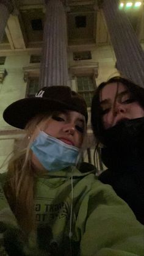
[[[113,187],[144,224],[144,89],[126,78],[102,82],[92,100],[92,127]]]

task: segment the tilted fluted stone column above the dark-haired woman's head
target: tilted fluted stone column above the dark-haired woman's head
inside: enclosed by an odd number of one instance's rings
[[[102,7],[110,33],[117,69],[121,75],[144,87],[144,52],[118,0],[104,0]]]

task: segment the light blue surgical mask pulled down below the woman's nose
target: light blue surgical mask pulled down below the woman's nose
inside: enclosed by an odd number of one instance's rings
[[[79,148],[65,144],[43,131],[40,131],[32,142],[31,149],[43,167],[49,171],[75,166],[79,155]]]

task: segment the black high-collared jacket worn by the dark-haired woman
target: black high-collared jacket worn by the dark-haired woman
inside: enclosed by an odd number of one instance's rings
[[[101,152],[103,163],[108,169],[99,175],[99,180],[111,185],[117,195],[131,207],[137,220],[144,224],[144,119],[132,122],[132,128],[128,128],[131,136],[127,131],[125,141],[121,135],[122,129],[115,130],[117,137],[121,136],[117,142],[114,142],[116,135],[113,131],[110,134],[109,139],[112,138],[113,142]],[[132,130],[135,129],[137,132],[133,134]]]

